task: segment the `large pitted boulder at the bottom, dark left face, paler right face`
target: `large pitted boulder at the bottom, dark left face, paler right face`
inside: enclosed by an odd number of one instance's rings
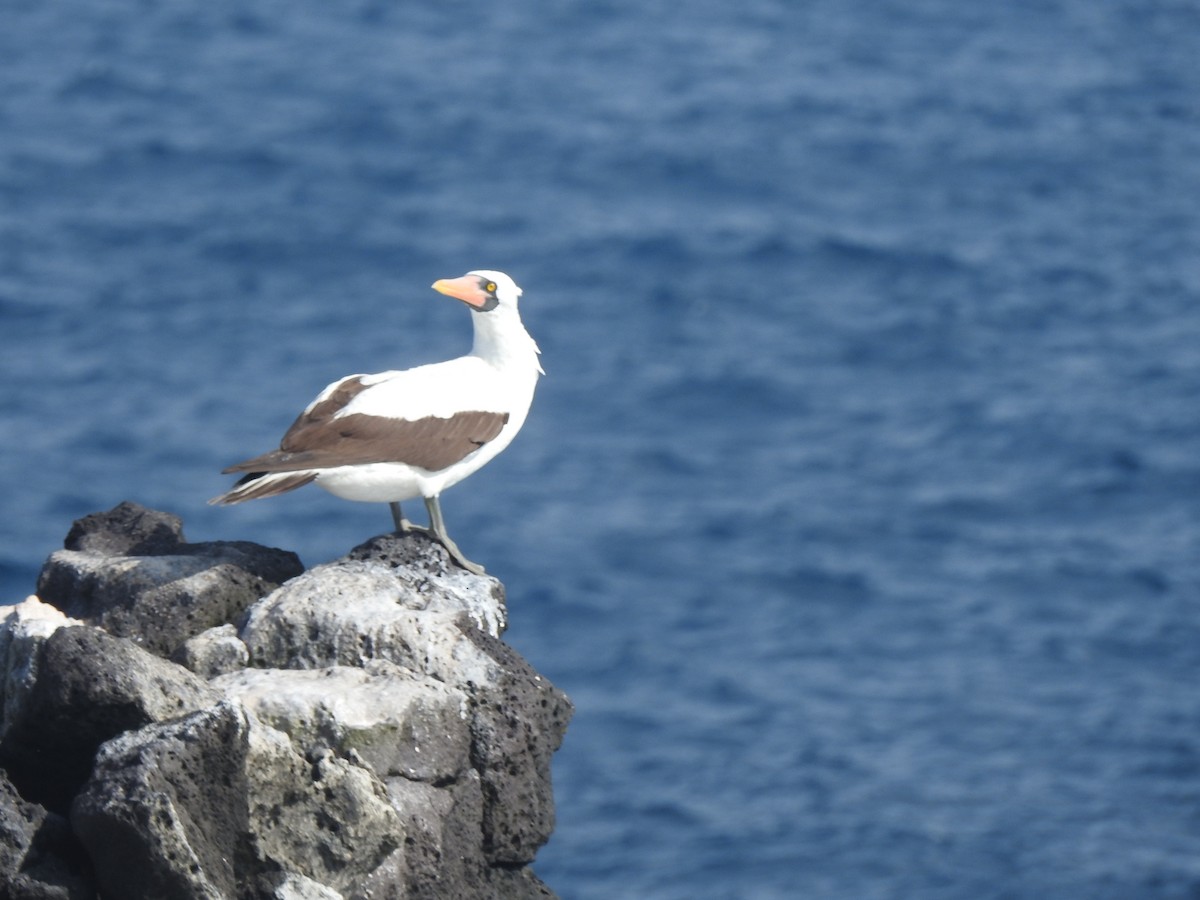
[[[106,744],[71,822],[101,892],[130,898],[233,898],[280,871],[336,892],[403,840],[370,769],[308,762],[229,701]]]

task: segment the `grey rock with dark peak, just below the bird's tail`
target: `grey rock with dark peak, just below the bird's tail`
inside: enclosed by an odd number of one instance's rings
[[[295,553],[257,544],[187,544],[176,517],[132,503],[79,520],[66,544],[37,595],[167,658],[304,570]]]

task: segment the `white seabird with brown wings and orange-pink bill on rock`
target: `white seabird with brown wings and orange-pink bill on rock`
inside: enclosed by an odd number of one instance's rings
[[[430,533],[464,569],[482,574],[446,533],[438,500],[506,448],[524,425],[538,376],[538,344],[521,324],[521,288],[504,272],[480,269],[433,282],[470,307],[470,353],[446,362],[353,374],[317,395],[280,449],[239,462],[245,472],[209,503],[274,497],[310,482],[347,500],[388,503],[396,530],[416,528],[400,504],[425,499]]]

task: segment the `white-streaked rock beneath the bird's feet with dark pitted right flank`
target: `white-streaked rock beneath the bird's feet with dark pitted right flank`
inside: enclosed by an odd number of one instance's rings
[[[528,863],[554,827],[550,758],[570,720],[570,701],[475,626],[468,604],[485,619],[491,614],[478,589],[470,600],[456,592],[414,608],[425,595],[414,601],[412,580],[377,562],[318,566],[256,604],[242,640],[256,666],[364,667],[386,660],[462,691],[469,698],[472,760],[484,784],[485,854],[492,864]]]

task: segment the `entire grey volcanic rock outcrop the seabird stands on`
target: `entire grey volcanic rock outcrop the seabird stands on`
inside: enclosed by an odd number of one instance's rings
[[[566,697],[424,534],[301,571],[134,504],[0,624],[0,899],[551,898]]]

